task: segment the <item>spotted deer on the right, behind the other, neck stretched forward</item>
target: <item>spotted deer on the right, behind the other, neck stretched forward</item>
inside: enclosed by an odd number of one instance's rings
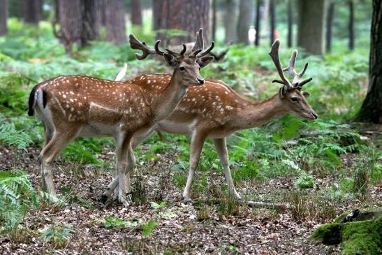
[[[310,95],[309,92],[302,91],[302,86],[310,82],[312,78],[300,81],[307,70],[308,63],[304,65],[300,73],[297,73],[295,71],[297,50],[293,50],[288,67],[283,68],[279,59],[279,45],[279,40],[274,41],[269,52],[281,78],[281,80],[272,80],[272,82],[282,85],[277,94],[265,100],[251,101],[237,94],[220,80],[206,80],[203,87],[190,87],[186,96],[166,119],[158,122],[149,132],[133,137],[131,144],[135,148],[154,131],[191,136],[190,167],[183,191],[184,202],[192,202],[191,184],[206,138],[213,139],[230,194],[237,201],[243,201],[242,196],[236,191],[231,177],[226,138],[235,131],[260,126],[288,113],[304,119],[318,118],[316,112],[306,101]],[[284,75],[284,72],[287,71],[293,77],[292,82]],[[140,78],[134,78],[132,82],[137,79]],[[140,85],[146,89],[160,89],[166,85],[169,79],[169,75],[157,75],[155,78],[157,82],[144,82]],[[117,184],[118,179],[116,178],[108,185],[108,189],[103,193],[104,196],[110,196]]]

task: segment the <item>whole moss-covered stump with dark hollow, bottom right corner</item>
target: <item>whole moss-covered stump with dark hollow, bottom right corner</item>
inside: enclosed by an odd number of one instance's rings
[[[381,233],[382,217],[379,217],[346,224],[324,224],[316,228],[311,238],[325,245],[341,243],[343,254],[381,254]]]

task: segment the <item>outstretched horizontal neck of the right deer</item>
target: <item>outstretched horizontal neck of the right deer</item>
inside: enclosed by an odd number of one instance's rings
[[[240,129],[250,129],[281,117],[287,113],[279,94],[263,101],[247,103],[240,112],[237,124]]]

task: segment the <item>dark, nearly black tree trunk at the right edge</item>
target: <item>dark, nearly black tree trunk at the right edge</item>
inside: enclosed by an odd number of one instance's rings
[[[355,119],[359,122],[382,122],[382,0],[373,0],[369,89]]]

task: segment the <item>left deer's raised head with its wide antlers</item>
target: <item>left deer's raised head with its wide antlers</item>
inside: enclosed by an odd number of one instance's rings
[[[214,42],[206,50],[194,50],[186,56],[186,45],[182,45],[180,52],[175,52],[169,49],[165,49],[163,52],[159,49],[160,40],[156,41],[154,50],[147,47],[145,42],[138,41],[133,34],[130,34],[130,45],[135,50],[142,50],[142,54],[135,53],[137,59],[145,59],[149,54],[157,54],[163,56],[166,63],[174,68],[173,76],[179,79],[179,83],[185,87],[190,85],[203,85],[205,80],[200,76],[199,69],[207,66],[214,59],[214,57],[206,56],[213,48]]]

